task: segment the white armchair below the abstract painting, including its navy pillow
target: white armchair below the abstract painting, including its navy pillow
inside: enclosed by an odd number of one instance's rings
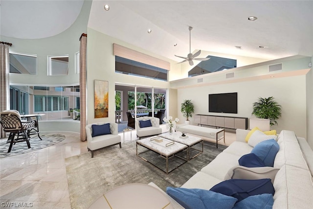
[[[98,122],[88,124],[86,126],[88,151],[91,152],[91,158],[93,158],[93,152],[108,146],[121,145],[121,136],[117,131],[117,123],[114,122]]]

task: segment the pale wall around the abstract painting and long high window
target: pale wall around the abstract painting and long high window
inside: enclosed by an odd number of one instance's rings
[[[141,48],[132,46],[121,40],[105,35],[101,32],[88,28],[87,41],[87,123],[94,123],[99,121],[114,121],[115,119],[115,83],[130,84],[142,87],[155,87],[168,89],[169,82],[155,80],[151,78],[143,78],[138,76],[115,73],[115,56],[113,55],[113,43],[132,48],[136,51],[163,59],[174,64],[173,61],[168,60],[159,55],[144,51]],[[109,81],[109,117],[94,118],[94,80]],[[175,103],[176,105],[176,103]],[[171,114],[171,113],[170,113]]]

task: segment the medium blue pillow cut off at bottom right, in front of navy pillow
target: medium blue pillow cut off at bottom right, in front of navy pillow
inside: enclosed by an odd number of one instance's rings
[[[233,209],[272,209],[273,204],[273,195],[260,194],[247,197],[236,203]]]

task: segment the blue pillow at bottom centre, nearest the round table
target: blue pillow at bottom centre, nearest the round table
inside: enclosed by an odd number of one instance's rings
[[[199,188],[167,187],[166,193],[185,209],[231,209],[237,201],[236,198]]]

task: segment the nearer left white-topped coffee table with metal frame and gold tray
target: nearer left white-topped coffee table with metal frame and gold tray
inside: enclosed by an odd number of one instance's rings
[[[145,148],[143,151],[139,150],[141,146]],[[185,158],[181,156],[181,154],[184,153],[183,151],[187,150],[187,148],[188,146],[185,144],[159,136],[136,141],[136,155],[167,174],[188,161],[187,152]],[[153,155],[150,151],[157,155]],[[160,157],[166,160],[165,167],[163,167],[164,163],[160,162]],[[175,159],[172,160],[172,158]],[[172,160],[171,162],[169,162],[170,159]],[[169,163],[171,163],[170,168]]]

